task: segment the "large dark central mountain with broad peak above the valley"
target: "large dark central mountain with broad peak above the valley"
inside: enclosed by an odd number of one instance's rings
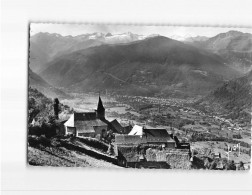
[[[47,66],[40,75],[54,86],[138,95],[205,94],[237,76],[218,55],[162,36],[79,50]]]

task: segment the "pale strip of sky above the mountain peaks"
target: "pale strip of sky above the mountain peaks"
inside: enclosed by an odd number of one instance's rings
[[[62,36],[80,35],[94,32],[122,34],[132,32],[139,35],[159,34],[166,37],[213,37],[219,33],[230,30],[251,33],[252,28],[222,28],[222,27],[191,27],[191,26],[146,26],[146,25],[115,25],[115,24],[53,24],[53,23],[31,23],[30,33],[34,35],[39,32],[57,33]]]

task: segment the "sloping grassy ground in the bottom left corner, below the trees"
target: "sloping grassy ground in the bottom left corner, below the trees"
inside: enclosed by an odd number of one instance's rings
[[[27,160],[33,166],[120,168],[106,154],[107,149],[104,143],[88,138],[28,136]]]

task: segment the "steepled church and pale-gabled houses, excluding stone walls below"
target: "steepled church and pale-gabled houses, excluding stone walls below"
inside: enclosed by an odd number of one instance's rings
[[[132,127],[130,124],[122,126],[116,119],[108,121],[100,96],[97,109],[94,112],[74,112],[63,124],[65,135],[100,138],[104,133],[112,131],[117,135],[117,141],[135,142],[134,140],[141,140],[146,143],[166,143],[172,148],[175,147],[175,141],[170,138],[166,129],[147,128],[138,125]]]

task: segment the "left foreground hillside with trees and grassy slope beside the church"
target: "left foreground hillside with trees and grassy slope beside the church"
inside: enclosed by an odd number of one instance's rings
[[[56,134],[73,112],[59,103],[59,120],[54,117],[53,100],[37,89],[28,89],[27,161],[34,166],[118,167],[107,154],[108,145],[93,138]]]

